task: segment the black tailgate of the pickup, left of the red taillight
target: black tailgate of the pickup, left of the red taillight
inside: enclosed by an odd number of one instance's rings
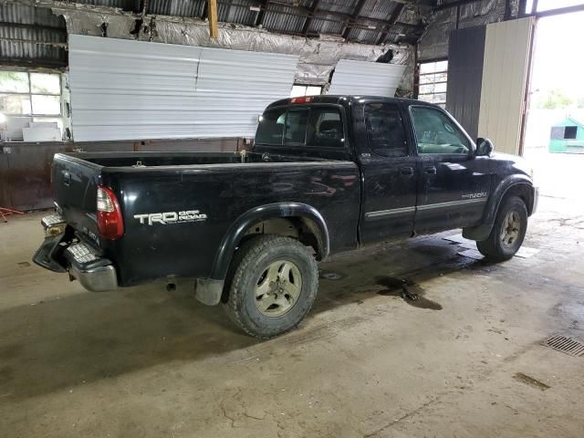
[[[96,197],[101,166],[57,153],[53,161],[53,191],[65,221],[96,241],[99,235]]]

